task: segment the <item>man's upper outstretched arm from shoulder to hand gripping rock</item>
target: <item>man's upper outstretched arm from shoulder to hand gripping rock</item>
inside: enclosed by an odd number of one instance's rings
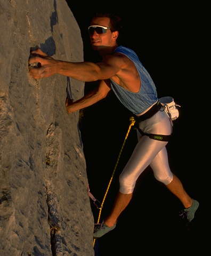
[[[108,79],[118,73],[124,65],[122,58],[117,55],[108,55],[108,57],[99,63],[93,62],[68,62],[54,60],[40,49],[33,51],[36,57],[29,59],[29,64],[39,62],[40,68],[31,68],[29,73],[36,79],[49,77],[54,74],[70,76],[79,81],[91,82],[102,79]]]

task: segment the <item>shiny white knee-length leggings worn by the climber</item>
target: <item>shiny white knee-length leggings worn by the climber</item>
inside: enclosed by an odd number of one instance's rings
[[[172,124],[165,111],[158,111],[151,118],[139,123],[144,133],[169,135]],[[138,143],[131,158],[119,176],[119,191],[123,194],[133,193],[139,175],[150,165],[155,178],[165,185],[173,180],[173,173],[169,169],[166,141],[150,139],[147,135],[137,132]]]

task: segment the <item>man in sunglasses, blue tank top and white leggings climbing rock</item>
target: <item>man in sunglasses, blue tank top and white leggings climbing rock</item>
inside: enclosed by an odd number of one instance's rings
[[[139,118],[139,142],[120,174],[120,189],[111,213],[96,226],[94,237],[98,238],[116,227],[117,219],[131,201],[135,182],[139,175],[150,165],[155,178],[182,202],[188,222],[194,218],[199,203],[184,190],[181,181],[171,172],[166,153],[167,141],[151,139],[147,134],[162,134],[164,137],[172,132],[172,123],[161,108],[157,98],[155,84],[147,70],[144,69],[134,51],[118,46],[120,19],[110,14],[95,15],[88,27],[91,45],[102,56],[98,63],[54,60],[40,50],[33,51],[38,56],[29,63],[39,62],[40,68],[30,69],[34,78],[48,77],[54,74],[70,76],[79,81],[98,81],[98,90],[88,93],[75,102],[66,102],[68,113],[93,105],[107,96],[110,90],[125,107]]]

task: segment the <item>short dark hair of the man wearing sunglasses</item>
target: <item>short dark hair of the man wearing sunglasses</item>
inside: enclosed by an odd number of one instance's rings
[[[110,12],[95,12],[94,15],[92,15],[93,18],[110,18],[110,26],[111,26],[111,32],[118,31],[119,36],[117,38],[117,42],[119,43],[121,38],[121,31],[123,29],[123,23],[122,19],[119,14],[117,13],[110,13]]]

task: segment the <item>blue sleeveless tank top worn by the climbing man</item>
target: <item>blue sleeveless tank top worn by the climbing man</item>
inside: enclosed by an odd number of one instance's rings
[[[132,111],[133,114],[141,114],[158,101],[156,86],[133,50],[124,46],[118,46],[115,52],[123,53],[133,61],[141,78],[141,88],[139,92],[131,92],[110,79],[111,89],[127,109]]]

